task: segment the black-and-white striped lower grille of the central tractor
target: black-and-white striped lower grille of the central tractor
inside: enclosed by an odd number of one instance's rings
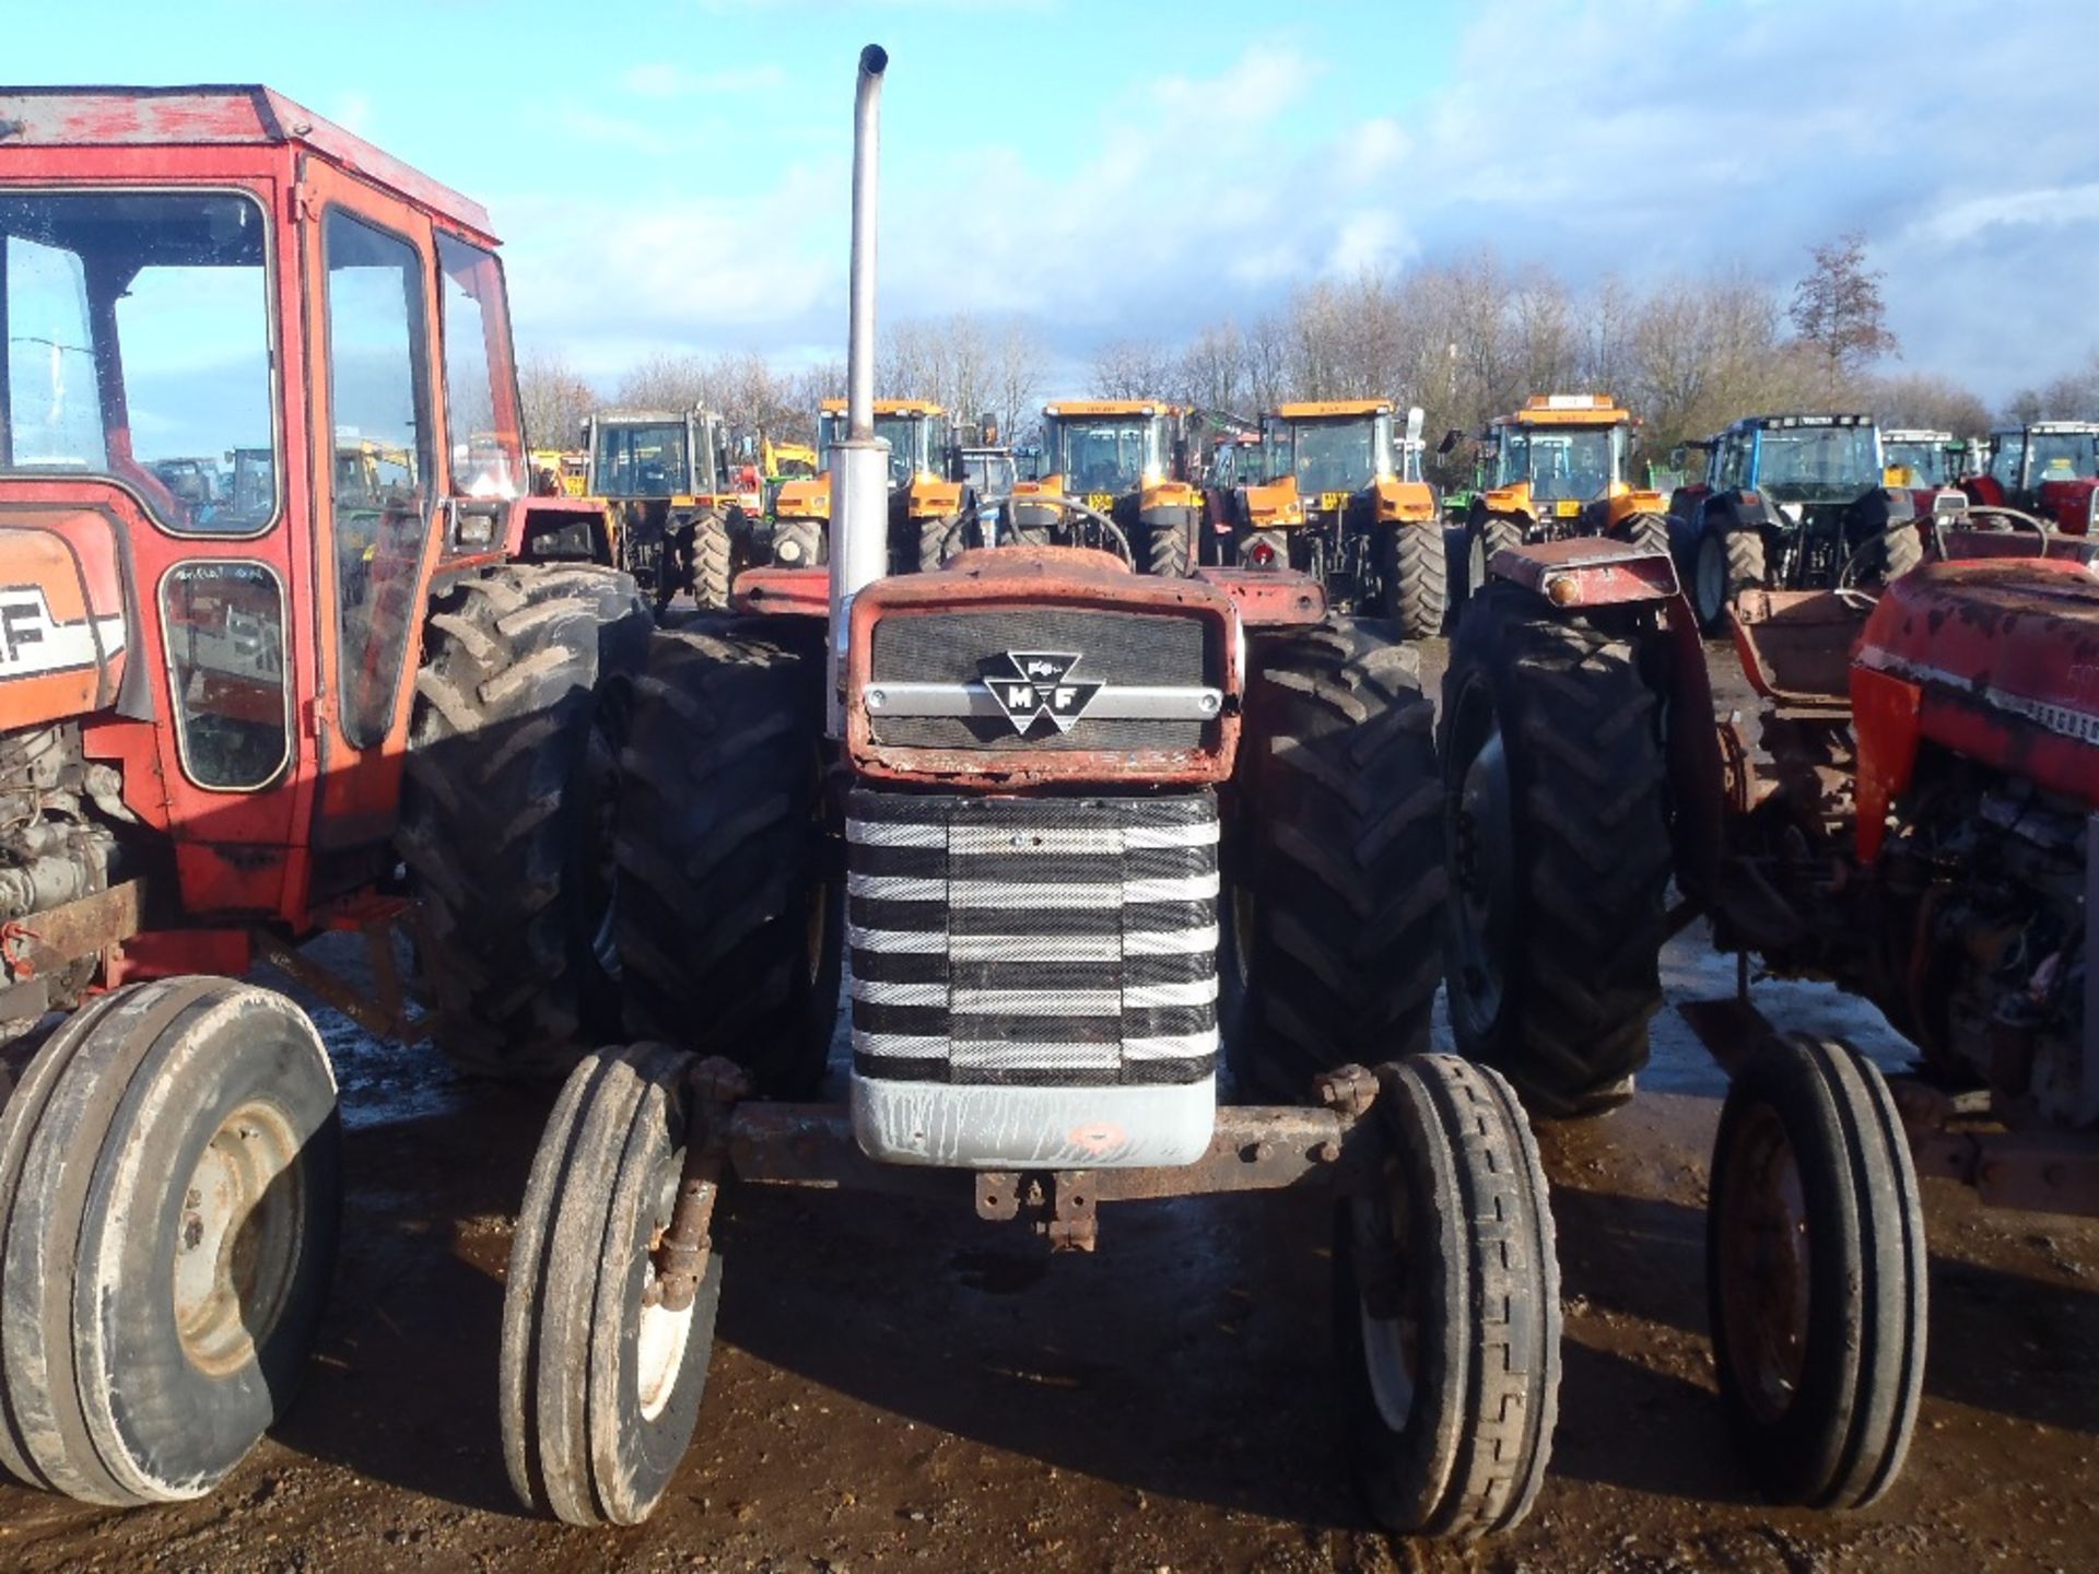
[[[1217,804],[913,797],[846,821],[869,1079],[1186,1085],[1217,1056]]]

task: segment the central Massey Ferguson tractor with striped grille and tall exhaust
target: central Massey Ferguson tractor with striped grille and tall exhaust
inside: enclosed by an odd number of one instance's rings
[[[861,55],[829,569],[745,573],[749,617],[657,632],[634,693],[613,938],[657,1041],[586,1060],[533,1163],[512,1484],[575,1524],[657,1505],[703,1417],[724,1188],[945,1196],[1064,1249],[1129,1198],[1314,1188],[1373,1513],[1513,1524],[1557,1270],[1507,1083],[1425,1054],[1444,863],[1415,657],[1287,571],[1022,544],[890,571],[884,67]],[[823,1085],[842,953],[846,1102],[751,1098]],[[1220,1106],[1220,1051],[1243,1096],[1297,1102]]]

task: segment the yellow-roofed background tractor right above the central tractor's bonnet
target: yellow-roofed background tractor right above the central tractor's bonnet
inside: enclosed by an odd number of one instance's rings
[[[1188,476],[1188,409],[1163,399],[1043,405],[1041,478],[1014,487],[1014,527],[1024,541],[1112,548],[1112,533],[1085,514],[1029,497],[1068,497],[1115,523],[1133,567],[1186,575],[1203,523],[1203,489]]]

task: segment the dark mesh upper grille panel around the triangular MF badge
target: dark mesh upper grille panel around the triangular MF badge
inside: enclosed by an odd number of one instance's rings
[[[978,684],[984,663],[1010,651],[1056,651],[1077,655],[1073,674],[1106,690],[1220,684],[1222,653],[1207,646],[1201,619],[1171,613],[1033,607],[890,615],[875,623],[869,682]],[[1194,751],[1215,747],[1217,724],[1081,716],[1068,730],[1043,720],[1022,732],[1005,716],[869,716],[869,737],[890,749]]]

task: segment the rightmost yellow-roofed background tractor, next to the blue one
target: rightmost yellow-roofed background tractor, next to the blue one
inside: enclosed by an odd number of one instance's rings
[[[1610,535],[1669,550],[1669,499],[1635,487],[1631,411],[1610,395],[1532,395],[1480,439],[1488,483],[1465,520],[1467,590],[1507,546]]]

